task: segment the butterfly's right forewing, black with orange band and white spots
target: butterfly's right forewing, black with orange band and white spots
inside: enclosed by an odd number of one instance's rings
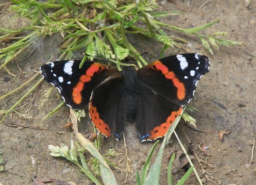
[[[186,105],[197,81],[209,71],[205,55],[190,53],[165,57],[138,70],[138,79],[166,99]]]

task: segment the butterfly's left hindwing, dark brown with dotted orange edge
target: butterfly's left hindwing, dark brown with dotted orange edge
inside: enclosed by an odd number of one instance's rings
[[[120,140],[124,130],[125,102],[123,76],[115,73],[96,86],[89,102],[92,123],[106,137],[114,134]]]

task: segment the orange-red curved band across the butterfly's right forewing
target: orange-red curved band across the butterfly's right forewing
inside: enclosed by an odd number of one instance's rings
[[[157,70],[164,74],[165,78],[172,80],[173,85],[177,88],[178,99],[183,100],[186,97],[184,83],[179,81],[175,74],[172,71],[169,71],[169,69],[164,64],[162,64],[162,62],[159,61],[159,63],[155,64],[154,66]]]

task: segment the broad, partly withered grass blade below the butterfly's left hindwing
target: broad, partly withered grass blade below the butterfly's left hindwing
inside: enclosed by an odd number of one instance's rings
[[[115,180],[115,176],[111,171],[110,167],[104,160],[103,156],[99,153],[99,151],[95,148],[95,146],[85,137],[82,136],[80,133],[76,133],[77,138],[82,145],[88,152],[92,154],[93,157],[98,159],[99,167],[101,170],[101,177],[105,185],[117,185]]]

